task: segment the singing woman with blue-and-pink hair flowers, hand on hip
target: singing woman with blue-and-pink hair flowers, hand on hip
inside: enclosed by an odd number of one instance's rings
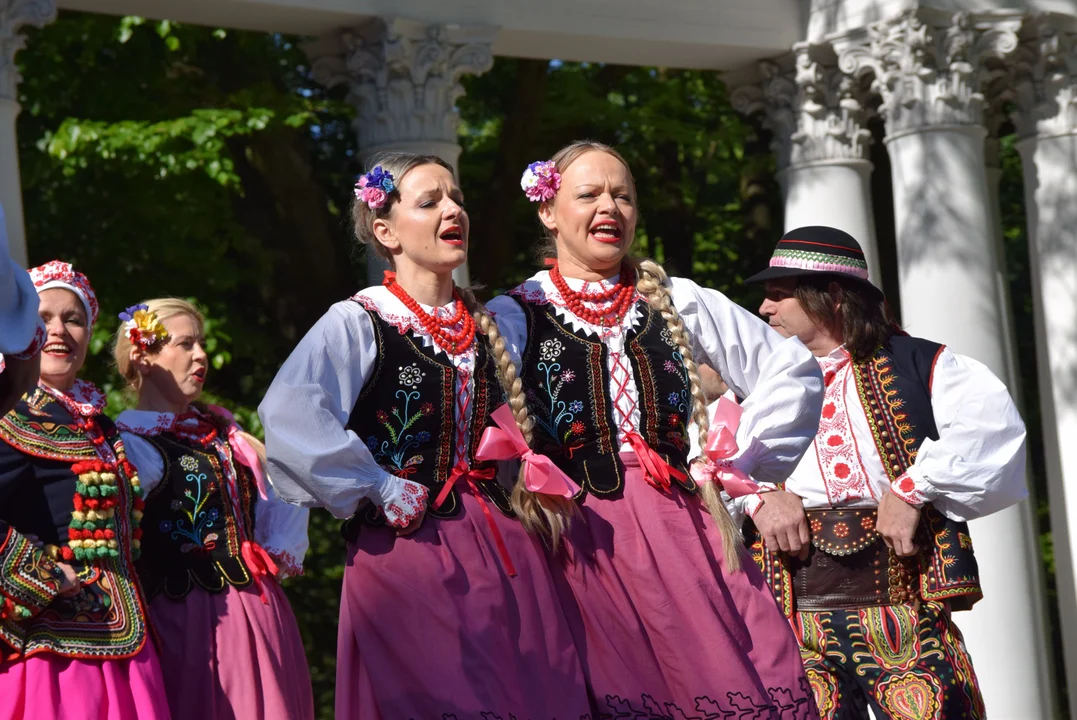
[[[561,510],[575,485],[528,449],[498,326],[452,283],[468,230],[452,169],[380,156],[352,220],[393,271],[330,308],[258,408],[281,497],[350,518],[336,717],[589,718],[544,551],[496,461],[522,458],[521,482]]]

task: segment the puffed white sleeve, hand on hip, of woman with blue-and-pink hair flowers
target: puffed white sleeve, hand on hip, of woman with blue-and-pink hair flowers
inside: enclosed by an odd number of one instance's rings
[[[360,500],[382,506],[406,482],[346,427],[377,352],[373,321],[347,300],[331,307],[281,366],[258,417],[269,480],[285,503],[348,518]]]

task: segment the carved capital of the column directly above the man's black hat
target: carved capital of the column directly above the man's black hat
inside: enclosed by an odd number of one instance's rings
[[[792,67],[760,62],[763,81],[737,88],[731,97],[738,112],[764,114],[782,169],[867,157],[871,132],[857,81],[819,59],[816,50],[795,46]]]

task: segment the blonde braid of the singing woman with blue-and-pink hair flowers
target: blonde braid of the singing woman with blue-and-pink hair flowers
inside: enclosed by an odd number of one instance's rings
[[[520,428],[520,434],[530,446],[534,440],[532,433],[534,420],[528,413],[523,381],[520,380],[516,363],[513,362],[505,339],[501,336],[501,329],[470,290],[460,290],[460,297],[463,298],[464,305],[472,313],[472,317],[475,319],[475,324],[486,334],[498,363],[498,377],[505,389],[505,396],[508,398],[508,407],[513,409],[516,426]],[[512,503],[524,530],[530,533],[547,535],[555,552],[560,543],[561,535],[569,528],[573,514],[578,511],[576,504],[569,498],[528,490],[523,485],[522,466],[520,467],[520,476],[513,485]]]

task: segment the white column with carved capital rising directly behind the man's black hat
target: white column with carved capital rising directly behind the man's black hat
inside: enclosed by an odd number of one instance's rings
[[[864,248],[868,274],[882,286],[871,207],[871,132],[855,82],[827,47],[800,43],[782,62],[759,63],[763,82],[737,88],[741,113],[764,113],[773,133],[779,182],[785,196],[785,230],[828,225]]]

